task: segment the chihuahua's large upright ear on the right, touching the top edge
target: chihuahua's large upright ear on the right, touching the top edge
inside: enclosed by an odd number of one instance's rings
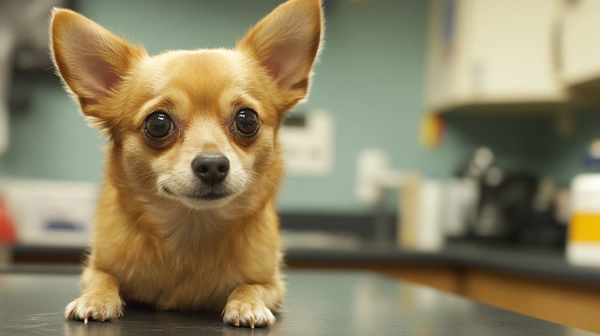
[[[262,19],[238,42],[268,71],[286,111],[306,97],[323,36],[320,0],[290,0]]]

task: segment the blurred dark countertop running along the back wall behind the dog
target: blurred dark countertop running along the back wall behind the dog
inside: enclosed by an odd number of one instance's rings
[[[82,248],[17,246],[15,256],[71,257],[77,260]],[[302,248],[286,250],[287,263],[369,264],[369,265],[446,265],[536,276],[577,284],[600,285],[600,268],[570,265],[564,252],[556,249],[493,247],[475,243],[450,243],[437,252],[400,250],[393,245],[361,243],[351,248]]]

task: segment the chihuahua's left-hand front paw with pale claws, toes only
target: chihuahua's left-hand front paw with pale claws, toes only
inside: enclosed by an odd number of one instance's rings
[[[72,320],[96,321],[116,320],[123,316],[123,304],[117,295],[85,294],[65,308],[65,317]]]

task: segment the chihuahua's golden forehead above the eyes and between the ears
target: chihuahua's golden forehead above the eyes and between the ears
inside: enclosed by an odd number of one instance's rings
[[[271,103],[270,91],[261,85],[264,76],[246,57],[235,50],[204,49],[147,58],[127,81],[132,86],[129,92],[137,94],[124,99],[126,104],[141,107],[140,120],[155,109],[181,116],[198,112],[224,116],[241,106],[260,109],[266,118],[274,113],[265,109]]]

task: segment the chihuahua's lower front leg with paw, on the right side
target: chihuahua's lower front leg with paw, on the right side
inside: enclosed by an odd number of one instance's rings
[[[272,284],[244,284],[229,295],[223,310],[223,322],[236,327],[272,326],[275,316],[270,309],[281,305],[285,286],[281,280]]]

